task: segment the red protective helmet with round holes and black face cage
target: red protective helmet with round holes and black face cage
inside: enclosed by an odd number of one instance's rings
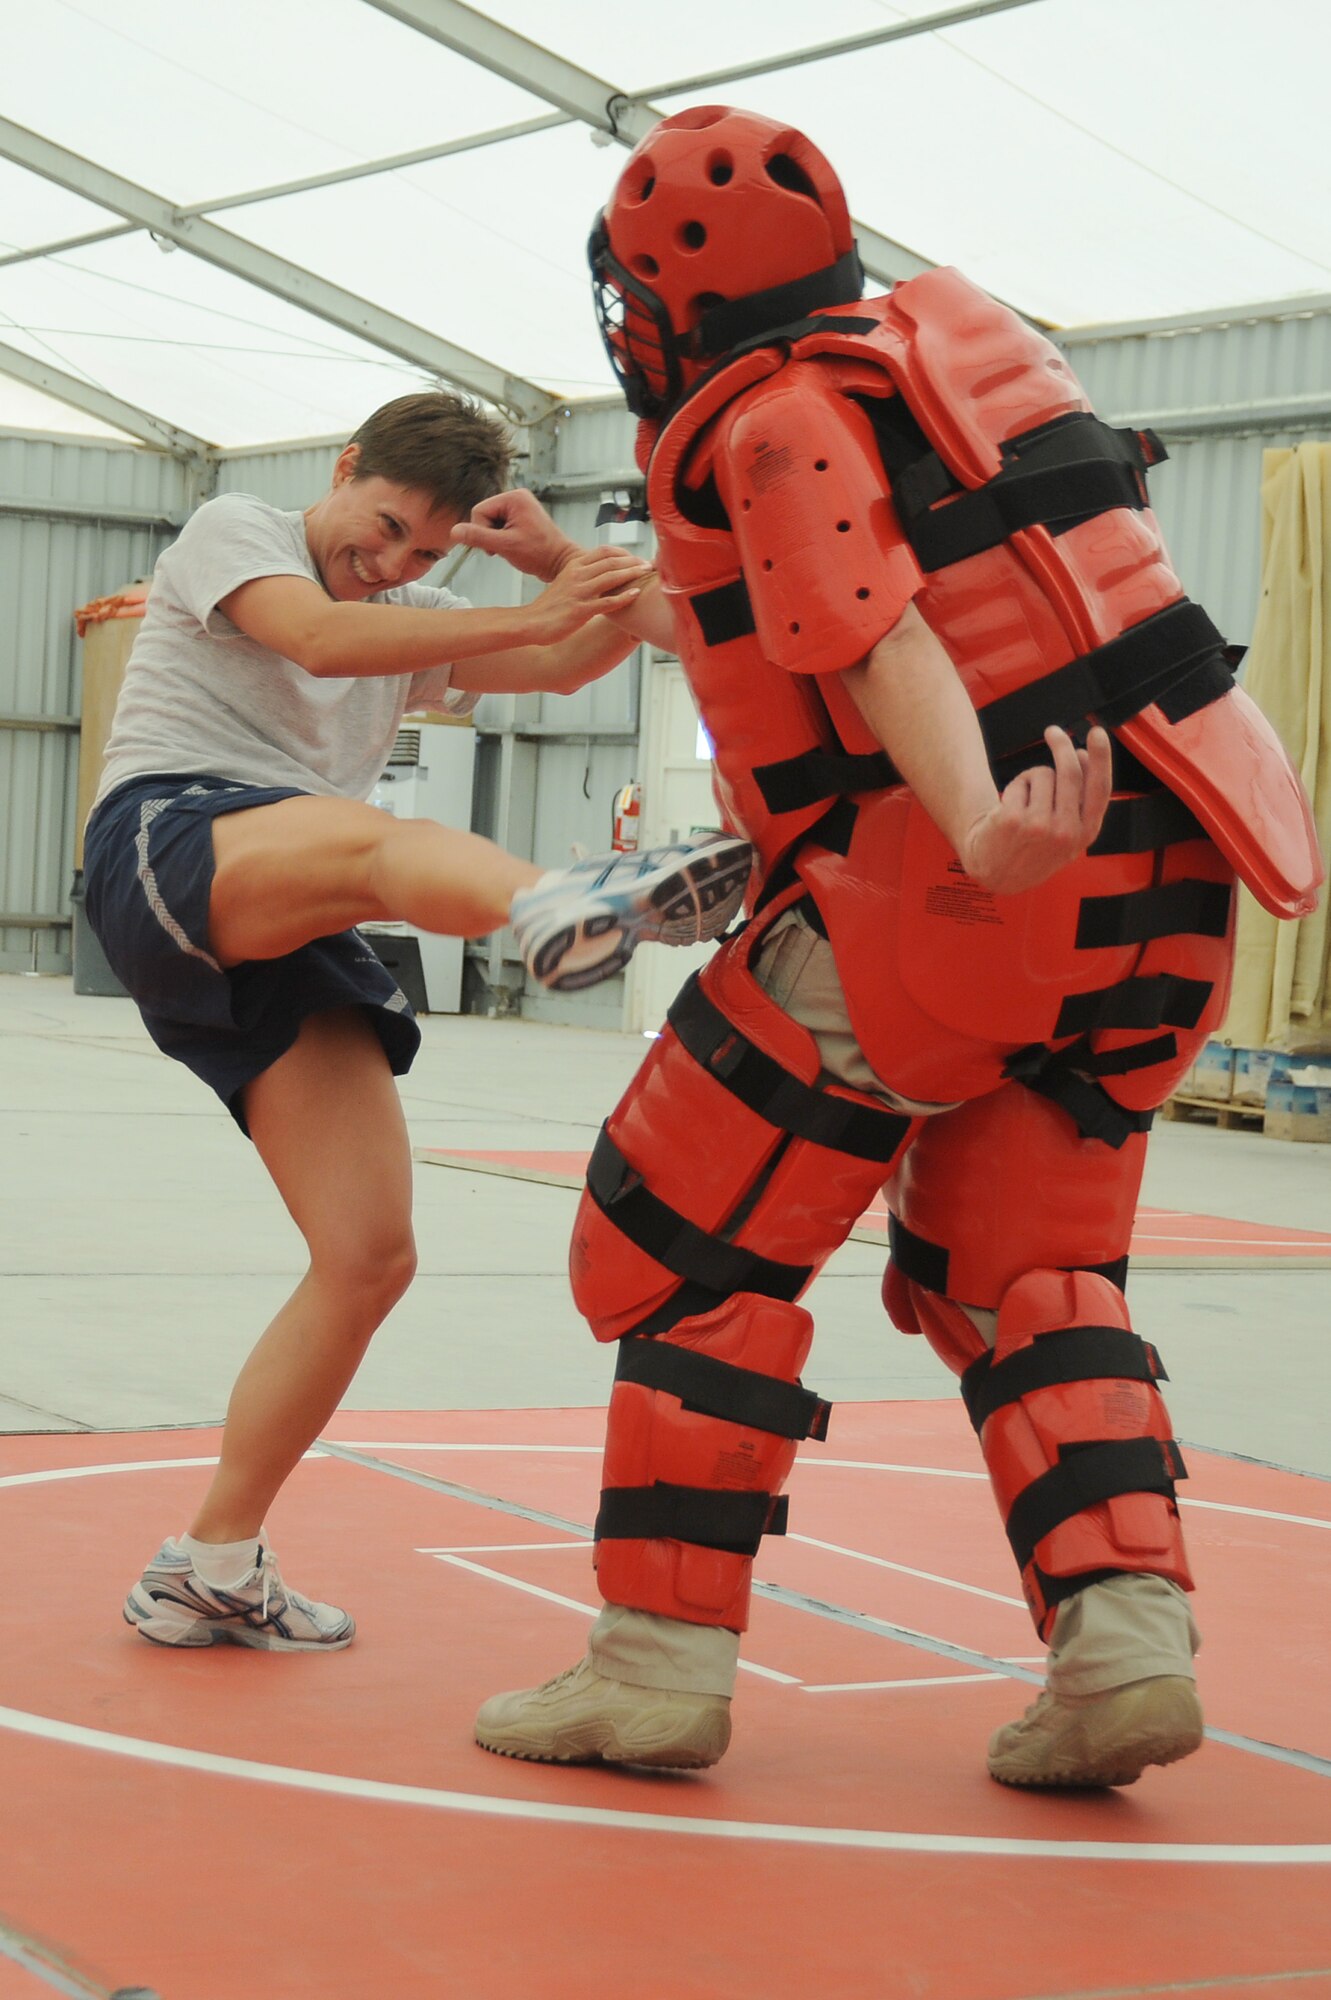
[[[588,246],[610,364],[664,418],[721,354],[859,298],[841,182],[803,132],[695,104],[630,154]]]

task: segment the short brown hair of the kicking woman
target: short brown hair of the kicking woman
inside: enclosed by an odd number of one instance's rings
[[[436,508],[450,508],[462,520],[504,492],[514,454],[508,426],[452,390],[386,402],[350,442],[360,446],[354,478],[428,492]]]

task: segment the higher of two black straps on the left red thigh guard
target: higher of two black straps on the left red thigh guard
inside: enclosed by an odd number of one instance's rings
[[[877,1160],[881,1166],[901,1150],[901,1140],[911,1128],[909,1118],[869,1104],[849,1104],[845,1098],[801,1084],[725,1020],[701,990],[695,972],[685,980],[666,1018],[693,1062],[777,1130],[847,1152],[855,1160]]]

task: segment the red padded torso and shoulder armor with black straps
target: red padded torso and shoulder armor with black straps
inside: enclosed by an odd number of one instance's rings
[[[1183,596],[1145,504],[1153,456],[953,270],[817,314],[697,384],[654,450],[650,506],[719,804],[767,870],[831,800],[897,782],[833,670],[915,596],[1001,778],[1049,722],[1093,716],[1269,910],[1313,908],[1303,788]]]

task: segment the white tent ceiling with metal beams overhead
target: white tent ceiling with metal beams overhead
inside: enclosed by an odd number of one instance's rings
[[[10,6],[0,424],[188,450],[440,378],[606,394],[610,128],[707,100],[809,132],[881,280],[959,264],[1055,326],[1313,298],[1329,58],[1323,0]]]

